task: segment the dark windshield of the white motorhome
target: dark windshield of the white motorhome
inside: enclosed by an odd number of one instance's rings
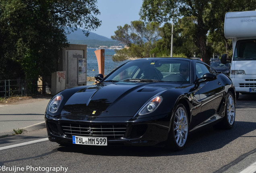
[[[256,40],[237,41],[233,60],[256,60]]]

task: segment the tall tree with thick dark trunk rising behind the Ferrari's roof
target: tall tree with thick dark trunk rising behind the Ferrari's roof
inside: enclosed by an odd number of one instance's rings
[[[155,4],[159,4],[160,13],[156,13],[158,10]],[[214,9],[217,6],[218,3],[214,0],[211,3],[205,0],[144,0],[140,15],[145,20],[160,20],[162,22],[170,21],[174,14],[175,18],[178,16],[195,17],[192,35],[196,46],[200,49],[202,59],[209,62],[210,52],[206,47],[206,34],[213,24]]]

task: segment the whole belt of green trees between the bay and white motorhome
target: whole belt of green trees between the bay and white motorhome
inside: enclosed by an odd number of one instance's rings
[[[251,0],[143,0],[140,20],[118,26],[111,36],[128,45],[113,60],[170,56],[173,22],[173,57],[196,56],[209,64],[214,55],[232,55],[232,41],[224,36],[225,13],[255,9]]]

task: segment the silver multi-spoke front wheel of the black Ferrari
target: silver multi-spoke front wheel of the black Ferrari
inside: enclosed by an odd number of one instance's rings
[[[179,147],[182,147],[188,136],[188,116],[183,107],[179,107],[173,121],[174,138]]]

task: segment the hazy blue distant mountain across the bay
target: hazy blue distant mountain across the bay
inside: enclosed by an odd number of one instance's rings
[[[71,32],[67,35],[68,42],[70,44],[87,44],[88,48],[99,48],[100,46],[122,46],[120,42],[101,36],[89,31],[89,36],[86,37],[83,33],[83,30],[77,29],[74,32]]]

